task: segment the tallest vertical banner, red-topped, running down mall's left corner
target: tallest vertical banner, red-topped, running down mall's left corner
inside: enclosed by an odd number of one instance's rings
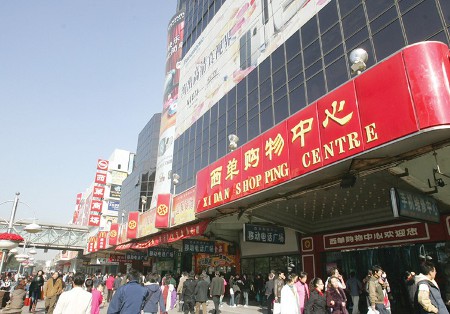
[[[167,27],[166,79],[163,91],[163,110],[159,130],[159,149],[156,179],[150,208],[155,208],[159,194],[170,193],[170,173],[173,162],[173,141],[178,108],[180,63],[182,58],[184,11],[178,12]]]

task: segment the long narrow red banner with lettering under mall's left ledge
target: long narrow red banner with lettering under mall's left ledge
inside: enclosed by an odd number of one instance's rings
[[[145,242],[133,243],[131,248],[146,249],[149,247],[158,246],[160,244],[172,243],[189,237],[200,236],[206,231],[208,224],[209,220],[205,220],[193,225],[188,225],[182,228],[164,232],[150,238],[150,240],[147,240]]]

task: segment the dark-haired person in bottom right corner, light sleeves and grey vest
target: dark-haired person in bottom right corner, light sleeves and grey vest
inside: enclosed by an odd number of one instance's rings
[[[416,313],[449,314],[436,278],[436,268],[432,262],[420,265],[421,274],[416,276],[417,291],[414,296]]]

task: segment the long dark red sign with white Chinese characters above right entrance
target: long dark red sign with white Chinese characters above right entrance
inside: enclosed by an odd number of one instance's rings
[[[429,240],[428,225],[411,222],[323,236],[324,249],[348,249]]]

